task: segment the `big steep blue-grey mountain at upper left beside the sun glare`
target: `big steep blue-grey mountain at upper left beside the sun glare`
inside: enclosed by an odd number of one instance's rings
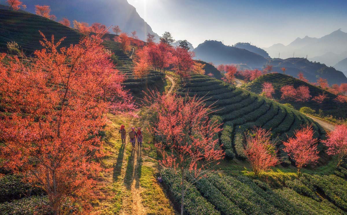
[[[141,40],[146,39],[147,32],[155,34],[151,26],[147,24],[136,12],[135,7],[130,5],[127,0],[22,0],[31,13],[35,13],[35,5],[50,5],[51,14],[57,16],[57,20],[63,17],[71,21],[76,19],[79,22],[87,22],[90,25],[100,22],[107,27],[118,25],[123,32],[136,30],[137,36]],[[81,7],[83,5],[83,7]],[[112,31],[112,30],[110,30]],[[156,41],[159,36],[155,34]]]

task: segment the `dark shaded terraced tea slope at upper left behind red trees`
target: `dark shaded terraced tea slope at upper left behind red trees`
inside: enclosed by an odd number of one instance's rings
[[[56,41],[66,37],[60,47],[77,44],[83,36],[72,28],[32,13],[0,9],[0,52],[7,53],[7,42],[15,41],[26,55],[32,55],[36,49],[42,48],[39,42],[42,40],[39,31],[42,31],[48,39],[54,35]],[[107,34],[105,38],[113,38],[114,36]],[[138,93],[147,87],[163,85],[163,74],[156,71],[151,71],[144,79],[134,78],[132,59],[123,52],[119,43],[104,40],[103,45],[121,60],[122,65],[116,68],[125,74],[124,85],[131,92]]]

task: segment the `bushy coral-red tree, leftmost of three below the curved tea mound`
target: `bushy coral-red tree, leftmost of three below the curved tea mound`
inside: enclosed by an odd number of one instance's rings
[[[262,128],[254,128],[246,133],[244,152],[256,176],[280,163],[276,142],[271,140],[271,132]]]

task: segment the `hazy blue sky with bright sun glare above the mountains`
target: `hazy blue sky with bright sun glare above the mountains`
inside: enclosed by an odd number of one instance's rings
[[[297,37],[347,31],[347,0],[128,0],[158,35],[196,47],[205,40],[288,45]]]

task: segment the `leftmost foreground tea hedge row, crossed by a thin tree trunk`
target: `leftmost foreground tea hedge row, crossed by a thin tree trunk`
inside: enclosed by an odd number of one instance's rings
[[[181,202],[181,177],[171,169],[161,171],[163,182],[168,186],[170,195],[177,206]],[[201,196],[199,191],[192,184],[186,184],[184,196],[184,214],[187,215],[219,215],[220,212],[214,209],[214,206]],[[180,208],[180,207],[179,207]]]

